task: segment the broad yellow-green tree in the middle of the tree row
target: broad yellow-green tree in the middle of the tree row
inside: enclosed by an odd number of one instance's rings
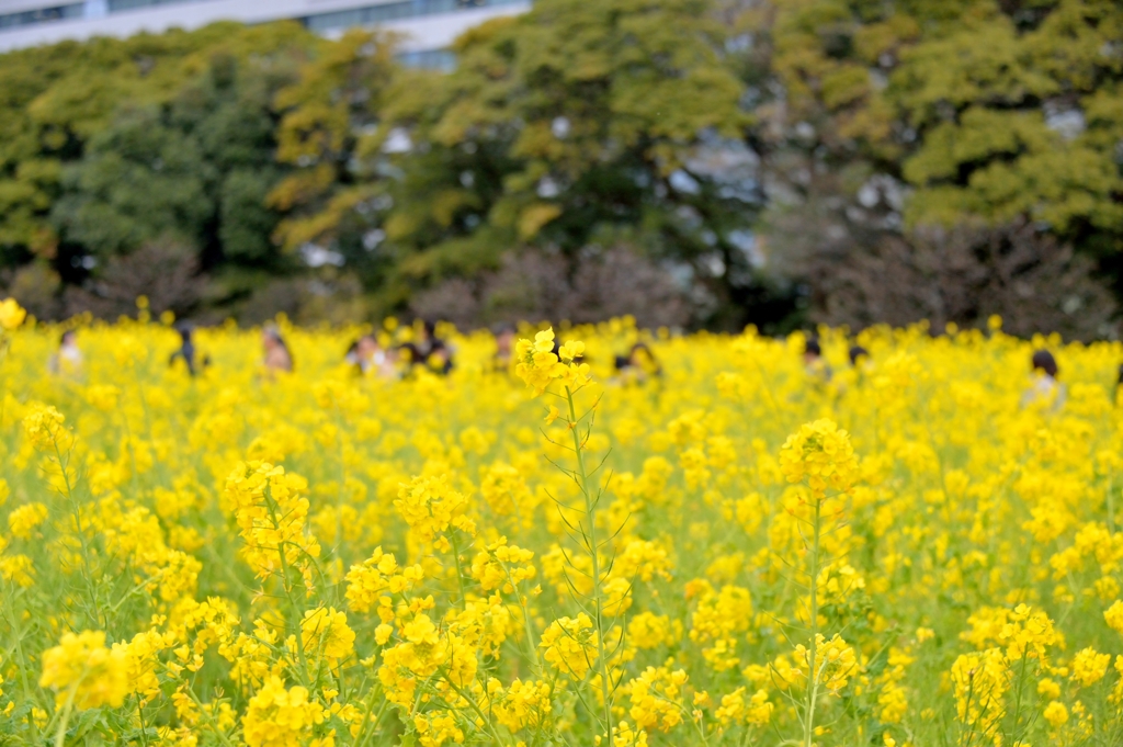
[[[541,0],[465,35],[455,72],[402,81],[386,117],[413,149],[395,161],[408,173],[385,230],[403,272],[430,279],[511,246],[576,253],[623,236],[694,265],[720,256],[725,295],[743,283],[728,235],[751,225],[757,195],[723,192],[695,163],[707,144],[736,149],[750,121],[709,10]]]

